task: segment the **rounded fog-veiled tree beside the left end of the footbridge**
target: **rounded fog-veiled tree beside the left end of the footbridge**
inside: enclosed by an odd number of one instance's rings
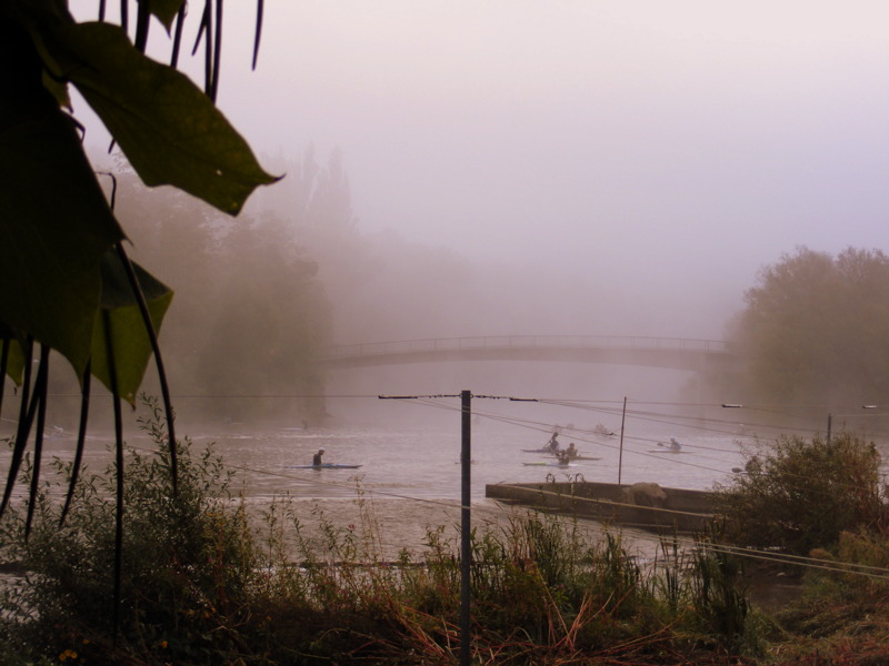
[[[259,397],[322,393],[312,361],[329,344],[329,309],[318,265],[297,244],[292,223],[264,215],[230,228],[213,265],[219,293],[198,377],[254,396],[260,414],[320,416],[320,397]]]

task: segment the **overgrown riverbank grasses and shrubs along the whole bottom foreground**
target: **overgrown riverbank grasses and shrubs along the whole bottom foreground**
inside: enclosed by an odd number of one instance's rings
[[[130,448],[127,455],[118,607],[111,603],[118,596],[113,468],[79,484],[61,528],[58,492],[46,484],[29,538],[27,505],[4,517],[0,555],[19,569],[0,598],[0,660],[458,663],[456,531],[430,526],[422,549],[383,561],[384,526],[376,524],[372,500],[360,492],[356,524],[346,528],[320,511],[300,515],[286,497],[252,521],[232,495],[237,484],[223,462],[187,440],[179,444],[173,494],[159,416],[143,423],[158,452]],[[873,464],[868,447],[850,437],[816,442],[811,452],[796,444],[779,444],[777,461],[760,452],[761,473],[786,470],[788,456],[821,460],[825,451],[837,460],[851,455],[847,472]],[[64,472],[62,463],[57,466]],[[798,482],[787,472],[768,487],[791,478]],[[740,483],[733,492],[750,487]],[[307,529],[309,521],[316,529]],[[889,627],[889,579],[878,573],[889,566],[885,525],[850,525],[836,538],[823,537],[817,552],[820,561],[873,567],[866,569],[869,576],[851,567],[810,569],[801,603],[766,609],[749,595],[750,561],[713,534],[693,543],[663,537],[657,555],[642,561],[619,532],[590,543],[575,521],[511,514],[472,534],[473,663],[873,663],[865,657],[889,656],[881,642]],[[802,571],[791,568],[782,573]]]

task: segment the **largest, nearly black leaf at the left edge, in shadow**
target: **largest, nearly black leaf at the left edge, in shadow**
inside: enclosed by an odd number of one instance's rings
[[[0,131],[0,321],[90,356],[102,254],[123,232],[60,111]]]

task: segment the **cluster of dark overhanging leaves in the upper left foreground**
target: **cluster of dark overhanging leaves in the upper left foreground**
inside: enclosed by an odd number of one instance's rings
[[[147,272],[136,280],[120,270],[126,233],[83,152],[69,85],[147,185],[172,184],[237,214],[277,179],[213,103],[218,68],[208,64],[201,91],[146,56],[153,19],[168,31],[176,20],[178,52],[184,0],[134,3],[132,38],[130,2],[121,3],[120,26],[103,20],[104,4],[97,3],[99,21],[77,21],[63,0],[0,2],[0,339],[17,361],[4,361],[0,375],[26,381],[36,341],[64,356],[79,380],[91,373],[133,402],[152,352],[140,326],[160,325],[171,294]],[[218,64],[218,40],[203,41]],[[154,302],[150,322],[136,307],[139,292]],[[103,314],[120,321],[111,326]],[[100,362],[112,343],[114,362]]]

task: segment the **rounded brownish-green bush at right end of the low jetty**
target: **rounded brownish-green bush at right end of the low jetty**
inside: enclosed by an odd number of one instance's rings
[[[873,444],[851,433],[829,442],[782,436],[749,457],[745,474],[717,486],[726,536],[807,555],[837,544],[843,531],[886,524],[879,465]]]

